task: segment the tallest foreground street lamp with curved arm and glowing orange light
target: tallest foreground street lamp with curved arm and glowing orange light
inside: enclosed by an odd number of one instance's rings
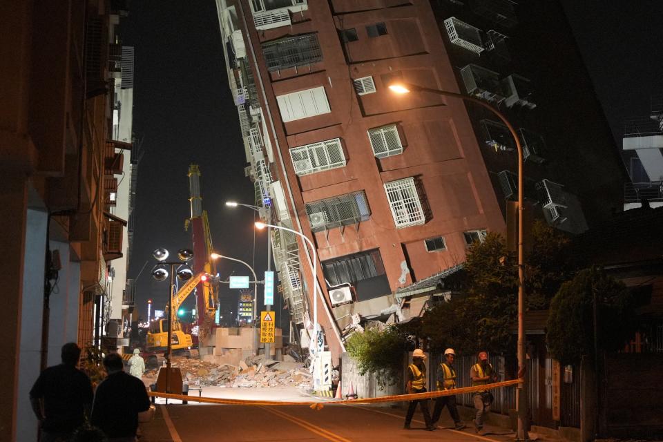
[[[484,102],[481,99],[468,97],[467,95],[462,95],[459,93],[448,92],[447,90],[439,90],[432,88],[425,88],[422,86],[417,86],[415,84],[406,83],[394,79],[387,85],[387,87],[396,94],[406,94],[412,91],[416,92],[427,92],[433,93],[436,95],[443,95],[445,97],[454,97],[463,99],[466,102],[472,102],[479,104],[483,108],[488,109],[496,115],[501,122],[503,122],[506,127],[509,129],[511,136],[516,142],[516,149],[518,153],[518,377],[523,380],[522,383],[518,384],[518,396],[517,396],[517,409],[518,409],[518,432],[516,433],[516,439],[518,440],[528,440],[527,434],[527,389],[525,383],[526,379],[526,360],[525,360],[525,324],[523,320],[523,315],[525,312],[525,259],[523,253],[523,148],[520,144],[520,138],[513,128],[512,124],[506,119],[506,117],[498,111],[494,106]]]

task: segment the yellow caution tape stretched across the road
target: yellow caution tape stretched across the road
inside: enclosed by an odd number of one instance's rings
[[[384,402],[401,402],[401,401],[418,401],[420,399],[431,399],[440,396],[455,396],[456,394],[474,393],[479,390],[493,390],[494,388],[511,387],[523,383],[522,379],[513,379],[512,381],[496,382],[488,385],[478,385],[477,387],[463,387],[455,388],[454,390],[440,390],[436,392],[414,393],[414,394],[396,394],[392,396],[382,396],[379,398],[361,398],[361,399],[339,399],[336,401],[325,401],[324,405],[343,403],[384,403]],[[206,398],[206,397],[192,397],[184,396],[184,394],[171,394],[163,392],[148,392],[150,396],[162,397],[167,399],[179,399],[181,401],[193,401],[204,403],[216,403],[224,405],[309,405],[311,410],[322,410],[323,403],[307,401],[307,402],[292,402],[292,401],[253,401],[250,399],[224,399],[224,398]]]

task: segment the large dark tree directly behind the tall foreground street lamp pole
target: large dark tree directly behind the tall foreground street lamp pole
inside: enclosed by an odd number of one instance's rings
[[[569,240],[541,221],[532,225],[532,251],[526,257],[526,302],[546,309],[560,285],[575,269],[568,258]],[[472,244],[465,262],[468,281],[461,294],[428,310],[421,331],[434,351],[454,347],[463,353],[515,352],[518,267],[498,233]]]

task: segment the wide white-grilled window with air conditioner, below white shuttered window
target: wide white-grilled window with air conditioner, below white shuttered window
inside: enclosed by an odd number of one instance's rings
[[[345,166],[340,138],[291,148],[290,157],[299,176]]]

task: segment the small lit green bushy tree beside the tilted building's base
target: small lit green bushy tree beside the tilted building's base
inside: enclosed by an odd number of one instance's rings
[[[378,386],[384,390],[401,376],[403,353],[407,350],[407,336],[398,327],[376,327],[355,333],[345,343],[347,353],[357,362],[360,374],[376,374]]]

